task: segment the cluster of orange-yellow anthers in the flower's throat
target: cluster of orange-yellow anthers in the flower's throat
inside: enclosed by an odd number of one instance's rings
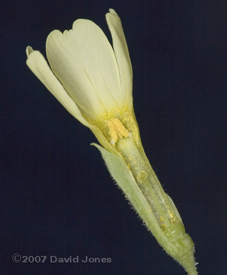
[[[118,139],[129,136],[129,132],[118,118],[111,118],[107,125],[110,129],[112,141],[116,142]]]

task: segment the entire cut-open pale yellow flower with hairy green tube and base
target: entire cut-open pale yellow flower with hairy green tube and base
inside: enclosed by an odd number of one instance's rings
[[[43,55],[27,47],[27,65],[100,145],[106,165],[143,222],[173,258],[196,275],[194,244],[172,199],[164,192],[144,152],[132,103],[132,66],[121,20],[106,20],[113,48],[92,21],[52,31]]]

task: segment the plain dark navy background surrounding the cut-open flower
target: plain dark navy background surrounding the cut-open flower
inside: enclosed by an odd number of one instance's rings
[[[1,274],[186,274],[111,180],[92,132],[25,64],[77,18],[110,38],[122,19],[145,152],[196,244],[200,274],[226,274],[227,2],[36,0],[1,4]],[[14,263],[12,255],[111,257]]]

